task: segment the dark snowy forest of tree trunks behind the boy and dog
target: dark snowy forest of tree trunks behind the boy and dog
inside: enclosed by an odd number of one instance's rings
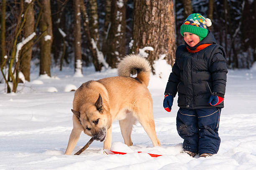
[[[31,62],[39,75],[51,68],[115,68],[129,53],[152,65],[173,65],[183,44],[180,25],[191,13],[212,20],[209,27],[225,48],[229,69],[251,68],[256,61],[255,0],[1,0],[0,83],[16,92],[30,81]],[[8,69],[12,68],[12,69]]]

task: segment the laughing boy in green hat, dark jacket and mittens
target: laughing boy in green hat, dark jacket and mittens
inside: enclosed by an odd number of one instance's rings
[[[185,44],[177,48],[164,92],[167,112],[178,92],[177,131],[184,139],[184,152],[192,157],[211,156],[220,147],[218,128],[228,69],[225,50],[207,29],[210,25],[210,19],[199,13],[184,21],[180,33]]]

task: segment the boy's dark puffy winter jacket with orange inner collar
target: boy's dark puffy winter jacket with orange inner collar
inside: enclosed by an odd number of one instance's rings
[[[207,47],[199,49],[206,44]],[[207,101],[212,92],[223,94],[224,97],[227,73],[225,50],[216,44],[208,30],[208,35],[196,46],[189,47],[185,43],[177,48],[164,94],[175,97],[178,92],[178,106],[182,108],[223,108],[224,101],[217,106],[211,106]]]

